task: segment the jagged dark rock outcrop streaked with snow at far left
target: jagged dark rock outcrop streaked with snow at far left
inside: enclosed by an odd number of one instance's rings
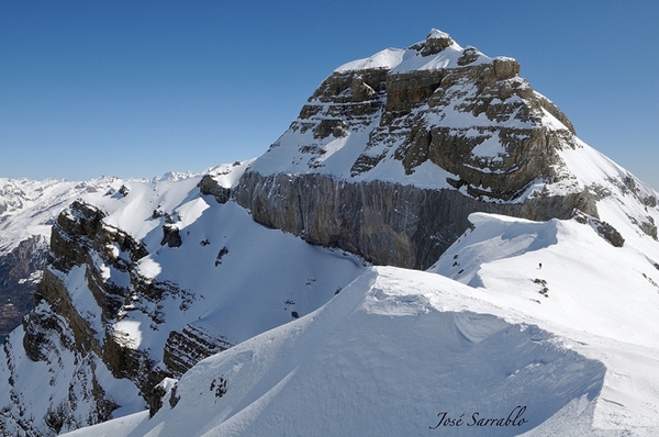
[[[145,246],[104,223],[104,216],[98,208],[76,201],[53,226],[48,264],[34,293],[34,309],[23,321],[22,346],[31,360],[43,362],[53,373],[68,369],[65,362],[74,360],[82,369],[79,378],[83,380],[67,380],[62,376],[57,384],[70,384],[76,396],[56,399],[52,394],[52,410],[43,417],[33,417],[34,429],[18,421],[27,435],[42,435],[44,426],[59,433],[111,417],[119,405],[105,395],[96,370],[98,363],[115,378],[132,381],[144,399],[152,396],[158,382],[174,374],[167,367],[156,367],[149,354],[137,349],[116,327],[116,322],[123,317],[123,309],[134,307],[136,296],[150,307],[165,294],[185,294],[185,291],[139,277],[135,262],[148,254]],[[71,280],[69,284],[67,281]],[[83,294],[78,295],[80,288],[89,290],[92,301],[86,302]],[[157,310],[147,316],[155,326],[163,322]],[[188,345],[186,366],[191,367],[214,350],[208,343],[200,340],[199,345],[199,350]],[[180,368],[176,371],[180,372]],[[85,411],[79,405],[82,400],[88,412],[85,418],[80,417]],[[11,415],[4,417],[16,419]]]

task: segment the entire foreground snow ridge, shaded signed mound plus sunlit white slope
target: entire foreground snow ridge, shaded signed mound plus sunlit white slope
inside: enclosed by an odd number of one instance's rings
[[[471,220],[433,272],[370,268],[197,365],[153,418],[71,435],[657,435],[650,254],[577,221]]]

